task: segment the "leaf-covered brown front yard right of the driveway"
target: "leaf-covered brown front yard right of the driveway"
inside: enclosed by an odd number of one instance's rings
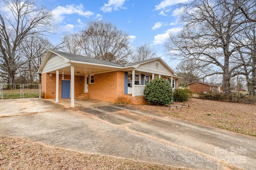
[[[182,104],[185,107],[170,110],[166,109],[166,106],[124,105],[138,109],[160,110],[170,118],[256,137],[256,105],[190,98],[188,102],[177,102],[173,106]]]

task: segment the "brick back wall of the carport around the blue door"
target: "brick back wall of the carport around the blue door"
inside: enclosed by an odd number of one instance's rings
[[[64,75],[65,80],[70,80],[70,75]],[[61,98],[61,80],[62,74],[59,74],[59,98]],[[42,98],[56,98],[56,74],[50,76],[49,73],[42,74]],[[75,76],[75,96],[84,92],[84,76]]]

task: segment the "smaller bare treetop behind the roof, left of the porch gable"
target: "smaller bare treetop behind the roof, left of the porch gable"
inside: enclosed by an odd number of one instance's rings
[[[149,44],[144,44],[136,47],[134,54],[132,55],[132,61],[144,61],[148,59],[156,58],[156,50]]]

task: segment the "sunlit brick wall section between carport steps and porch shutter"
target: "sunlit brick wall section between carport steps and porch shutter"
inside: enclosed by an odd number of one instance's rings
[[[88,93],[91,99],[116,102],[119,96],[124,95],[124,72],[94,74],[94,84],[89,82]]]

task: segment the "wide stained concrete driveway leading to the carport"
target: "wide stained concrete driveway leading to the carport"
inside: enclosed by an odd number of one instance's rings
[[[72,110],[63,103],[0,100],[0,134],[177,167],[256,169],[255,138],[168,119],[157,111],[93,100],[76,100],[79,107]]]

